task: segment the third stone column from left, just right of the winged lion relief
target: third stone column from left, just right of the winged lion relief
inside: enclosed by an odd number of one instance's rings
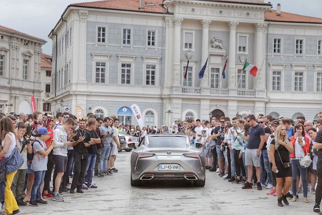
[[[229,95],[237,95],[236,91],[236,28],[239,23],[231,21],[228,23],[229,34],[229,59],[228,59],[228,92]],[[236,113],[235,113],[236,114]]]

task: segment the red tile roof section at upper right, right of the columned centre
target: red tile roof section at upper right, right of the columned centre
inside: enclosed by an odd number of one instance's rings
[[[321,18],[307,17],[297,14],[281,12],[281,16],[276,15],[276,10],[265,12],[265,21],[300,22],[300,23],[321,23]]]

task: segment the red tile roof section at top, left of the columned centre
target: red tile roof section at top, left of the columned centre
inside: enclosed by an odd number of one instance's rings
[[[153,3],[155,6],[147,5],[146,3]],[[144,8],[140,9],[140,0],[101,0],[75,3],[71,4],[70,6],[127,10],[148,13],[166,13],[166,9],[161,6],[162,4],[162,0],[145,0]]]

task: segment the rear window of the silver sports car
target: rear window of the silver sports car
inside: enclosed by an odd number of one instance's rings
[[[145,142],[150,148],[187,148],[190,143],[185,136],[150,136]]]

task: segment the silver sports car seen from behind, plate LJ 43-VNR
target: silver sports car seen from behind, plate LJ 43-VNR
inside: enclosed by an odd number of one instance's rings
[[[186,135],[148,134],[138,148],[133,143],[128,146],[135,149],[131,154],[131,186],[158,179],[181,179],[204,186],[204,156]]]

